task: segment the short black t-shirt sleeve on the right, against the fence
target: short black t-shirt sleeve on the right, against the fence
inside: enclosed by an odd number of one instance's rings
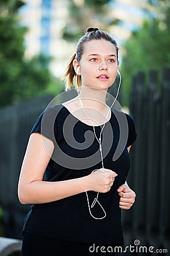
[[[128,121],[128,129],[129,129],[127,147],[129,147],[137,139],[137,131],[135,129],[134,119],[129,114],[126,114],[126,118]]]

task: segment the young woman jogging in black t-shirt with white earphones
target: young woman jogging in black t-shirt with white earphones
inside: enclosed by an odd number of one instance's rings
[[[46,108],[30,134],[18,185],[20,202],[32,204],[22,256],[103,255],[104,247],[111,255],[107,248],[123,245],[120,209],[135,200],[124,183],[137,134],[130,115],[106,104],[117,72],[116,41],[88,28],[65,74],[78,96]]]

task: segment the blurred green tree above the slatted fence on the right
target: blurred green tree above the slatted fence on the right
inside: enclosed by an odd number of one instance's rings
[[[151,1],[149,1],[151,2]],[[143,22],[125,42],[120,66],[122,73],[122,104],[130,101],[132,77],[138,71],[162,70],[170,63],[170,6],[169,1],[152,2],[156,16]],[[146,81],[147,82],[147,81]]]

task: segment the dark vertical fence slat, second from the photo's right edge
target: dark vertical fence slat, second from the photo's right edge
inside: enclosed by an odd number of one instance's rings
[[[147,243],[158,245],[158,185],[159,185],[159,123],[158,123],[158,72],[150,71],[146,105],[146,236]]]

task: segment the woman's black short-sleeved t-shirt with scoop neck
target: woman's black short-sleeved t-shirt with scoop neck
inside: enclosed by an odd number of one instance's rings
[[[102,127],[95,126],[98,139]],[[46,108],[35,122],[32,133],[41,133],[54,143],[53,155],[45,170],[45,181],[75,179],[102,168],[94,127],[74,117],[62,104]],[[105,123],[101,136],[104,168],[118,174],[111,190],[99,193],[94,207],[91,207],[97,196],[94,191],[51,203],[33,204],[25,216],[23,230],[66,241],[122,245],[124,239],[117,188],[125,183],[130,168],[127,148],[136,138],[133,118],[112,109],[111,119]]]

